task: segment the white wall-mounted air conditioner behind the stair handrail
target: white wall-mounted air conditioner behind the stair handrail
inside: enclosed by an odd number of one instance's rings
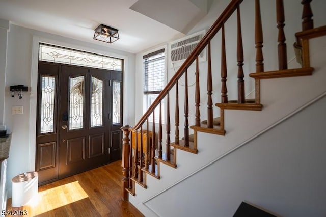
[[[194,33],[170,43],[171,64],[181,66],[193,52],[197,44],[205,35],[205,30]],[[206,61],[206,48],[200,53],[199,61]]]

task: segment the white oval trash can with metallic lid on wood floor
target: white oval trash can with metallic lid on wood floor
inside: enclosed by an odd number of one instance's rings
[[[11,179],[12,181],[12,207],[26,205],[37,197],[38,173],[26,172]]]

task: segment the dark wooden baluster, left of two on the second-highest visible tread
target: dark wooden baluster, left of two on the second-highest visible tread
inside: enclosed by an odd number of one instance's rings
[[[264,71],[263,57],[263,29],[261,24],[260,1],[256,0],[255,16],[255,44],[256,44],[256,72]]]

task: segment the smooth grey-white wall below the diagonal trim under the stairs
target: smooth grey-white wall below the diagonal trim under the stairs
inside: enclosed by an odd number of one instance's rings
[[[145,205],[158,216],[232,216],[248,201],[278,216],[325,216],[324,111],[325,96]]]

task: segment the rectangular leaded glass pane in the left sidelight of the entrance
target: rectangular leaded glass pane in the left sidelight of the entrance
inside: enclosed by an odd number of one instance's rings
[[[54,132],[56,78],[41,76],[40,133]]]

